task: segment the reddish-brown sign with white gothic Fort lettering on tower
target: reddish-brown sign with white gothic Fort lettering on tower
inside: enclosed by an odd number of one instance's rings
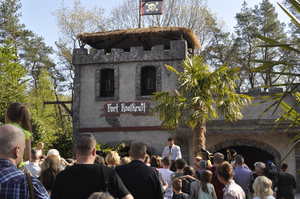
[[[113,102],[104,105],[104,112],[107,114],[147,114],[149,109],[149,102]]]

